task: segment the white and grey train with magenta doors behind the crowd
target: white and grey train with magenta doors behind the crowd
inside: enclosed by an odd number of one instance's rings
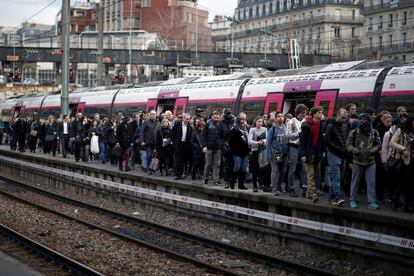
[[[393,66],[363,70],[323,71],[277,77],[246,78],[242,73],[226,76],[172,79],[157,85],[134,88],[83,89],[69,95],[70,114],[93,117],[122,112],[131,116],[138,111],[166,110],[175,115],[197,109],[208,116],[214,110],[243,111],[252,120],[262,113],[294,113],[302,103],[322,106],[327,117],[355,103],[359,111],[367,107],[395,111],[406,106],[413,114],[414,66]],[[60,94],[32,94],[13,97],[0,103],[0,119],[20,116],[40,117],[61,113]]]

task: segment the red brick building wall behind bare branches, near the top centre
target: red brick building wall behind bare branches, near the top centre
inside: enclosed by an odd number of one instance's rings
[[[170,49],[211,50],[208,11],[196,0],[142,0],[142,29],[157,33]]]

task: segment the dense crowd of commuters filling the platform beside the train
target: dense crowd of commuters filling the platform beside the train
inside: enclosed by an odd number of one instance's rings
[[[329,204],[342,206],[349,197],[358,208],[358,193],[366,193],[368,208],[388,202],[392,210],[413,211],[414,121],[405,107],[394,114],[357,106],[340,108],[325,118],[322,107],[299,104],[295,114],[273,112],[250,125],[246,114],[214,111],[208,118],[197,110],[191,117],[171,111],[138,112],[133,118],[87,118],[81,113],[56,121],[35,114],[1,123],[12,150],[68,154],[76,162],[102,162],[119,170],[191,177],[204,185],[318,202],[329,193]],[[95,161],[99,160],[99,161]],[[158,172],[159,171],[159,172]],[[299,185],[297,185],[299,184]]]

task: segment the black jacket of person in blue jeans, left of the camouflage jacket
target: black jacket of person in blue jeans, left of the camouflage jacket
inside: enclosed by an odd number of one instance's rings
[[[348,139],[348,128],[345,124],[332,121],[325,132],[325,142],[328,150],[341,158],[346,158],[349,153],[346,149],[346,140]]]

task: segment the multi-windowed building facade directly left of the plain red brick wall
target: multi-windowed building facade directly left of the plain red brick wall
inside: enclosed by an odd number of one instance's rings
[[[101,0],[104,9],[104,30],[139,30],[141,18],[141,0]]]

